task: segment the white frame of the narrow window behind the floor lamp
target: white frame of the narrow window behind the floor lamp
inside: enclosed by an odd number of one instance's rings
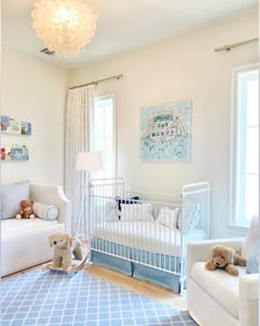
[[[115,160],[115,167],[113,167],[113,178],[117,178],[118,176],[118,141],[117,141],[117,109],[116,109],[116,96],[113,94],[111,95],[101,95],[101,96],[95,96],[94,98],[94,107],[93,107],[93,111],[90,113],[90,125],[89,125],[89,149],[90,151],[95,150],[94,149],[94,146],[93,146],[93,139],[94,139],[94,130],[91,128],[91,125],[94,125],[95,120],[94,120],[94,117],[95,117],[95,108],[96,108],[96,102],[97,101],[106,101],[106,99],[112,99],[112,111],[113,111],[113,130],[112,130],[112,139],[113,139],[113,153],[112,153],[112,156],[113,156],[113,160]],[[104,167],[105,168],[105,167]],[[98,177],[98,178],[105,178],[105,171],[104,170],[104,175],[101,177]],[[91,178],[95,178],[95,175],[97,172],[91,172]],[[100,175],[100,171],[99,171],[99,175]]]

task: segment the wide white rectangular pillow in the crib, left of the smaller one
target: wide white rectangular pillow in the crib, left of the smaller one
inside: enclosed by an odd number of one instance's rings
[[[121,221],[153,221],[150,202],[126,204],[121,203]]]

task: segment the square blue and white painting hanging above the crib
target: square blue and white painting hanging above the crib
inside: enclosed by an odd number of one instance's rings
[[[141,107],[141,159],[189,159],[191,112],[191,99]]]

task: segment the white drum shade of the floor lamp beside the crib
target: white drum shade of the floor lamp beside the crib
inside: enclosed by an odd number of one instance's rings
[[[78,153],[76,170],[97,171],[102,169],[102,158],[100,153]]]

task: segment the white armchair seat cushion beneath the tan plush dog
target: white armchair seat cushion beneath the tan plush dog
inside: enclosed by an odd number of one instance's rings
[[[237,267],[239,275],[247,274],[246,267]],[[192,278],[220,306],[238,318],[239,277],[231,276],[223,270],[206,271],[205,262],[197,262],[193,265]]]

